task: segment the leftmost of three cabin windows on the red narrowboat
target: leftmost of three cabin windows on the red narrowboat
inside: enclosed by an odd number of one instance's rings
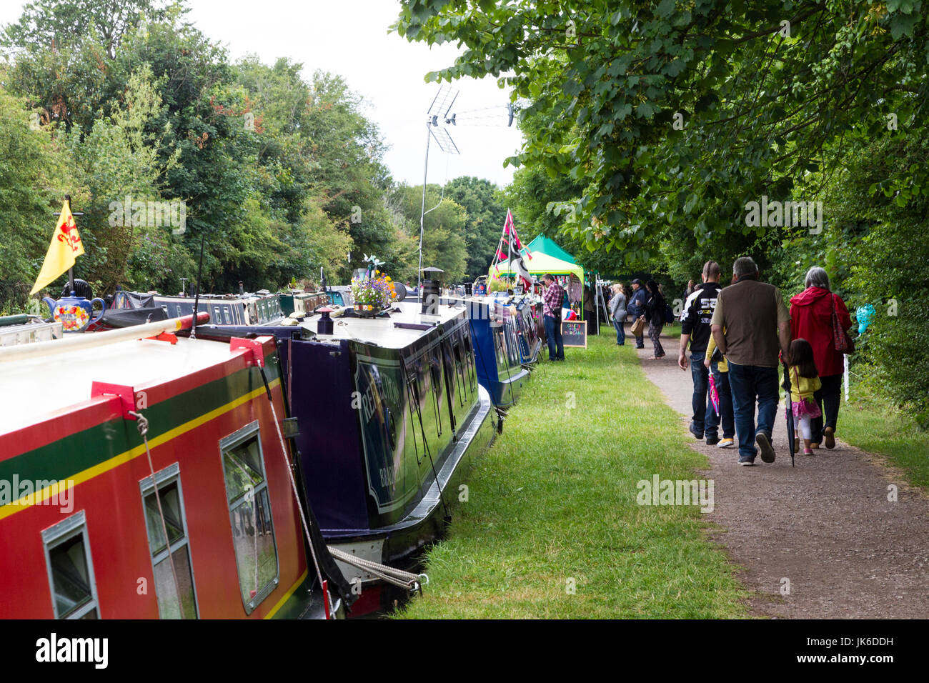
[[[98,619],[84,510],[42,532],[56,619]]]

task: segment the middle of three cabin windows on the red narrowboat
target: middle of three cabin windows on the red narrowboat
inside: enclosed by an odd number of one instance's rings
[[[158,598],[158,614],[162,619],[196,619],[197,598],[193,586],[193,569],[190,564],[190,545],[187,535],[187,519],[184,515],[184,498],[181,495],[180,474],[177,463],[155,472],[162,510],[158,511],[158,500],[151,478],[139,482],[142,490],[142,507],[145,511],[145,527],[149,534],[151,566],[155,577],[155,595]],[[164,514],[164,528],[162,527]],[[164,542],[164,532],[169,543]],[[168,545],[174,573],[168,564]],[[175,585],[177,576],[177,585]],[[179,593],[179,595],[178,595]]]

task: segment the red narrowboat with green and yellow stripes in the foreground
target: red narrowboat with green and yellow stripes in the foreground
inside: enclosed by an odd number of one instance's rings
[[[0,348],[0,617],[326,617],[350,596],[307,532],[274,339],[185,324]]]

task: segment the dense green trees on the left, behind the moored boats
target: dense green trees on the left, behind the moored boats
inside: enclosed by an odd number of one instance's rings
[[[371,254],[415,280],[422,188],[390,177],[380,131],[340,76],[230,62],[182,3],[160,0],[38,0],[0,46],[0,310],[26,305],[66,193],[84,213],[75,274],[99,294],[179,291],[202,242],[207,291],[274,289],[321,268],[348,282]],[[430,186],[429,206],[440,193]],[[497,193],[453,180],[426,216],[424,265],[457,281],[488,262]],[[114,215],[136,202],[182,203],[183,225],[179,212],[170,224]]]

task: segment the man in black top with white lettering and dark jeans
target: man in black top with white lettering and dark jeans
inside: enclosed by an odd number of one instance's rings
[[[700,273],[700,284],[694,288],[690,296],[684,302],[684,310],[681,312],[681,344],[677,353],[677,364],[681,370],[687,370],[687,345],[690,345],[690,375],[693,379],[693,416],[690,419],[690,433],[696,439],[703,439],[706,435],[706,445],[719,445],[719,422],[720,414],[724,412],[723,391],[721,385],[726,382],[728,388],[728,378],[721,378],[718,371],[713,371],[713,383],[716,385],[716,391],[719,394],[720,406],[719,414],[713,410],[713,401],[710,400],[710,372],[711,370],[703,364],[706,356],[706,348],[709,345],[710,338],[713,336],[710,327],[710,321],[713,320],[713,310],[716,309],[716,296],[719,294],[719,264],[715,261],[707,261],[703,265],[703,271]],[[735,426],[732,420],[732,395],[728,395],[727,416],[729,418],[729,429],[726,434],[726,426],[723,427],[723,435],[732,443],[732,437],[735,434]]]

